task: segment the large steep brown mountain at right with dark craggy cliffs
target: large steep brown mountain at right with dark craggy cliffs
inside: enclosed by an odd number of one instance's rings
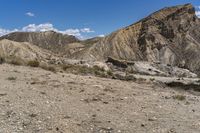
[[[167,7],[73,55],[87,60],[161,62],[200,70],[200,20],[191,4]]]

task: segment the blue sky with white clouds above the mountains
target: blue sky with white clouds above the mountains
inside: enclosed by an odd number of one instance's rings
[[[41,27],[80,38],[106,35],[163,7],[185,3],[200,6],[199,0],[1,0],[0,35]]]

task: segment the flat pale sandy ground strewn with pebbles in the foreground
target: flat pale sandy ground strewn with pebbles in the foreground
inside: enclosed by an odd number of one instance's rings
[[[0,75],[0,133],[200,132],[200,97],[183,90],[7,64]]]

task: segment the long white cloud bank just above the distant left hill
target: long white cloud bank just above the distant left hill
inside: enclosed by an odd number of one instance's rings
[[[67,35],[73,35],[76,36],[79,39],[86,39],[85,35],[88,33],[93,33],[95,31],[91,30],[90,28],[82,28],[82,29],[66,29],[66,30],[58,30],[53,26],[51,23],[43,23],[43,24],[29,24],[27,26],[24,26],[21,29],[14,29],[14,30],[7,30],[7,29],[2,29],[0,28],[0,36],[9,34],[11,32],[45,32],[45,31],[55,31],[58,33],[62,34],[67,34]]]

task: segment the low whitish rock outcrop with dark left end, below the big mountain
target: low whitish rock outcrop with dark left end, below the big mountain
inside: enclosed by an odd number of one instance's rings
[[[106,61],[108,66],[113,71],[120,71],[129,74],[141,74],[151,76],[164,76],[164,77],[187,77],[196,78],[197,75],[191,71],[176,66],[160,64],[156,62],[147,61],[125,61],[117,60],[111,57]]]

